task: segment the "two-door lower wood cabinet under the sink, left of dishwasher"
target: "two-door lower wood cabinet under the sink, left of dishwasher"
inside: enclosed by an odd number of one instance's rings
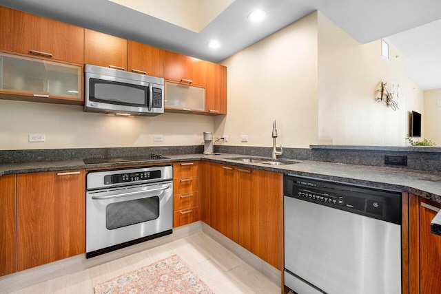
[[[210,163],[208,186],[201,218],[280,270],[282,174]]]

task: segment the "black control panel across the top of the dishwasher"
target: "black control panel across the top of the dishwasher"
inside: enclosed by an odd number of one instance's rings
[[[401,224],[401,193],[396,191],[285,175],[283,195]]]

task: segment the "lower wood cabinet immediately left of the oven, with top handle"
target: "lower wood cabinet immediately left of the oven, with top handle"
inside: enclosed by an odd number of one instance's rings
[[[17,270],[85,253],[85,171],[17,175]]]

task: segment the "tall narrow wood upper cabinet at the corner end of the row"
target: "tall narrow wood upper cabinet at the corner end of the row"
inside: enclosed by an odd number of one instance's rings
[[[205,111],[227,114],[227,67],[223,65],[207,62]]]

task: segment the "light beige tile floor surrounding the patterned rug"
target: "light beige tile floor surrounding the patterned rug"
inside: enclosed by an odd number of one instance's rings
[[[129,255],[90,269],[24,288],[13,293],[94,293],[99,282],[179,255],[215,293],[280,293],[271,282],[252,266],[225,249],[205,233],[196,233],[141,253]]]

